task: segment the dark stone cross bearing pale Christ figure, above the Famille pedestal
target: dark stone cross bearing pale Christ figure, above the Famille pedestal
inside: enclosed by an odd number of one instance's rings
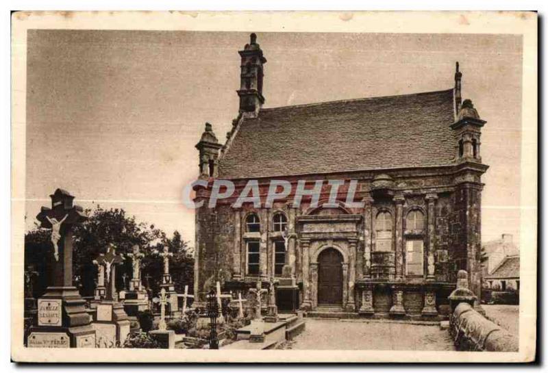
[[[51,229],[53,246],[52,283],[55,287],[73,286],[73,226],[87,220],[82,207],[73,205],[74,196],[58,189],[50,195],[51,209],[42,207],[36,220],[40,227]]]

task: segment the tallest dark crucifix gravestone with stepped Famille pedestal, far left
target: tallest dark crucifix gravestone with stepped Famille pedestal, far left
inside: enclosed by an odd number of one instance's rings
[[[62,189],[50,195],[51,208],[42,207],[36,219],[51,229],[51,253],[47,258],[50,283],[37,301],[37,325],[30,330],[29,347],[95,347],[86,301],[73,285],[73,227],[87,219],[74,196]]]

